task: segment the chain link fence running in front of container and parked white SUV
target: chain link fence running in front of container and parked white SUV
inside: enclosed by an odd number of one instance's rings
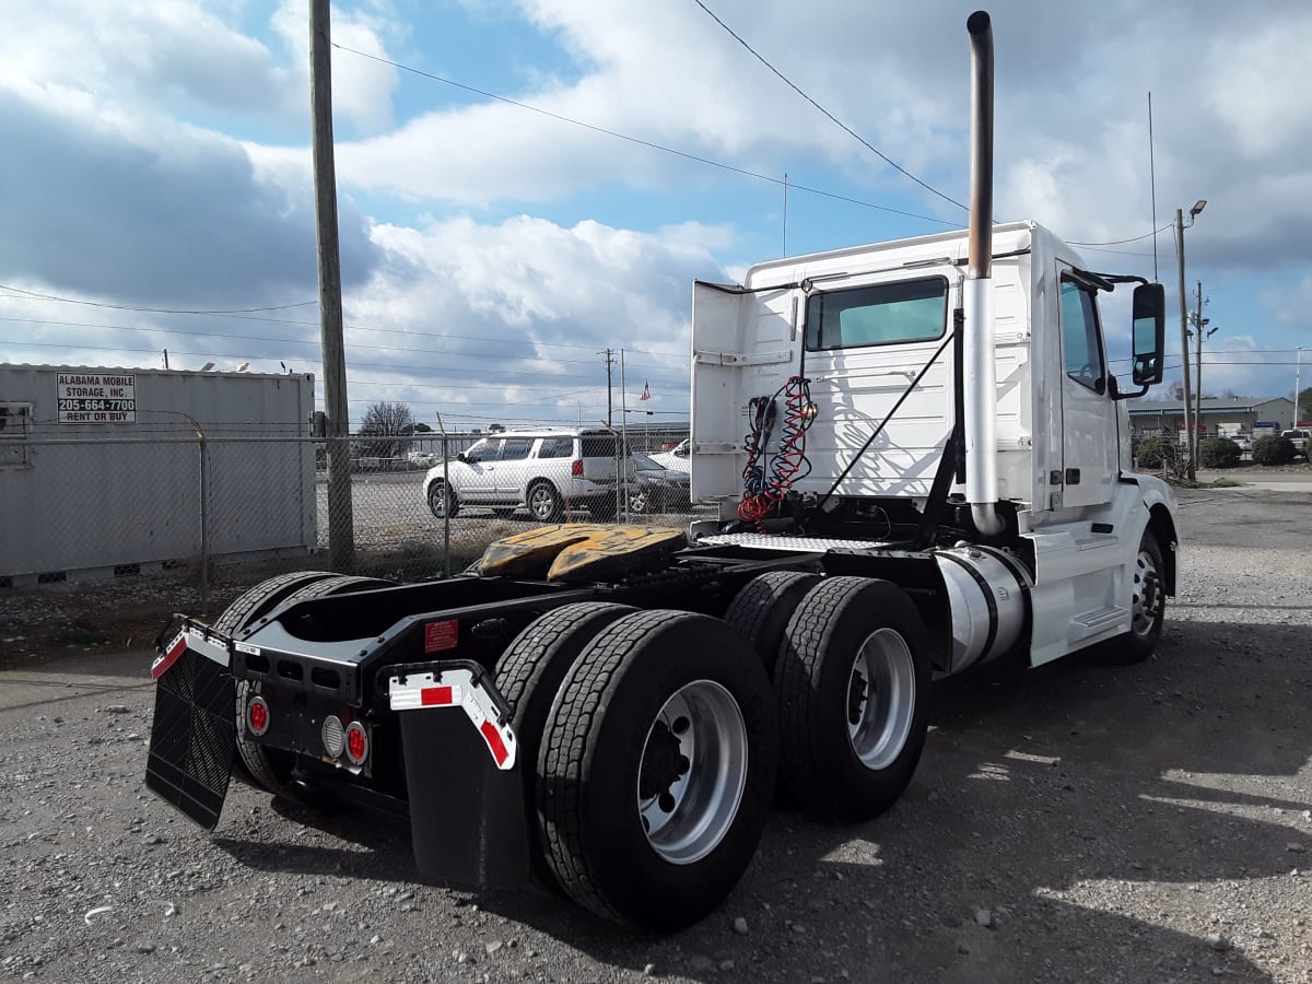
[[[609,462],[572,429],[527,451],[516,434],[340,441],[349,513],[331,501],[324,438],[30,436],[0,467],[0,590],[172,573],[205,600],[216,584],[333,567],[412,581],[548,522],[682,527],[694,514],[686,458],[663,450],[678,436],[648,443],[656,461],[642,438],[632,455],[611,440]]]

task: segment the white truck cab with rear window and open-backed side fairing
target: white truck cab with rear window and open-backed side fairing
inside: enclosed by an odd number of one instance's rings
[[[1004,548],[1034,575],[1031,661],[1113,638],[1132,622],[1132,562],[1156,530],[1173,585],[1172,493],[1131,471],[1124,398],[1107,336],[1130,336],[1130,375],[1160,379],[1162,303],[1135,287],[1132,324],[1113,332],[1099,298],[1131,278],[1090,270],[1035,222],[992,228],[988,332],[992,399],[964,386],[967,235],[945,232],[752,266],[743,285],[698,283],[693,315],[691,472],[695,500],[719,505],[711,535],[799,533],[900,539],[900,529],[946,510],[949,538]],[[1127,352],[1126,354],[1131,354]],[[798,412],[761,428],[777,459],[804,430],[787,495],[756,527],[743,522],[752,421],[803,380]],[[967,451],[972,417],[993,441]],[[744,438],[744,434],[749,434]],[[967,504],[966,459],[996,472],[989,506],[1002,531],[981,531]],[[935,488],[938,495],[935,495]],[[790,508],[791,504],[791,508]]]

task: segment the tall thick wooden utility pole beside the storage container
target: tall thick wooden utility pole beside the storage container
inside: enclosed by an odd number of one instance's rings
[[[332,55],[328,0],[310,0],[310,113],[314,118],[315,216],[319,230],[319,337],[324,352],[328,438],[328,554],[333,571],[356,567],[350,501],[350,415],[341,337],[337,168],[332,147]]]

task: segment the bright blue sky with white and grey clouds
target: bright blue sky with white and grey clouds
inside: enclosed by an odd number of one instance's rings
[[[596,421],[607,346],[631,407],[647,382],[686,419],[694,278],[964,224],[972,4],[703,3],[934,190],[697,0],[336,4],[353,419],[390,399],[429,422]],[[1290,395],[1299,345],[1312,384],[1312,113],[1291,81],[1312,7],[989,9],[997,216],[1105,244],[1084,251],[1105,272],[1157,269],[1174,311],[1169,224],[1206,198],[1186,232],[1218,328],[1204,391]],[[174,369],[321,378],[306,0],[5,14],[0,362],[160,367],[168,349]]]

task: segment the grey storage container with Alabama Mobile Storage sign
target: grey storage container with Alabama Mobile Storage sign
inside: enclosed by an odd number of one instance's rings
[[[314,377],[0,365],[0,586],[316,547]]]

